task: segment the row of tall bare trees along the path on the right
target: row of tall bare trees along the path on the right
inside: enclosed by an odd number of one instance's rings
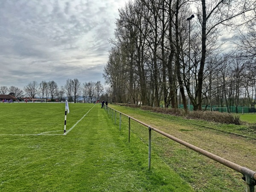
[[[113,102],[159,107],[163,101],[185,110],[188,101],[194,110],[255,105],[255,6],[255,0],[126,3],[103,73]],[[225,28],[236,30],[236,49],[221,49]]]

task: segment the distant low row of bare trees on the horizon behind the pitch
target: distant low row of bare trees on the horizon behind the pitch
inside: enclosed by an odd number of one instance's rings
[[[68,98],[69,102],[77,102],[80,96],[86,102],[94,102],[100,99],[104,94],[104,87],[100,81],[97,82],[81,82],[78,79],[67,79],[64,86],[58,86],[55,81],[32,81],[27,84],[23,90],[18,87],[11,86],[0,87],[0,94],[10,94],[20,99],[28,96],[32,99],[39,97],[40,99],[58,99],[61,101],[64,97]]]

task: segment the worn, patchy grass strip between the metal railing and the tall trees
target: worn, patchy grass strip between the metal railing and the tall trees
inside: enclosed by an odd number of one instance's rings
[[[255,133],[244,131],[245,125],[227,125],[110,105],[122,113],[160,129],[224,159],[256,171]],[[119,114],[117,115],[119,125]],[[128,117],[122,117],[122,128],[127,128]],[[148,129],[131,121],[131,131],[148,142]],[[223,132],[227,131],[227,132]],[[248,135],[241,137],[228,132]],[[246,189],[241,174],[210,160],[183,145],[152,132],[152,151],[186,180],[198,192],[240,192]]]

